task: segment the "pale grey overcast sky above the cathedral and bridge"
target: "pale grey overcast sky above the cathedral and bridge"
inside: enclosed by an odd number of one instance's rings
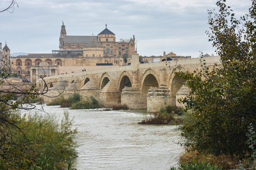
[[[207,10],[216,0],[16,0],[13,13],[0,13],[0,42],[13,52],[58,50],[62,21],[67,35],[98,35],[106,28],[117,41],[135,35],[137,53],[159,56],[174,52],[199,57],[214,54],[205,33]],[[11,0],[0,0],[0,11]],[[236,17],[248,13],[251,0],[227,0]],[[9,10],[9,11],[12,11]]]

